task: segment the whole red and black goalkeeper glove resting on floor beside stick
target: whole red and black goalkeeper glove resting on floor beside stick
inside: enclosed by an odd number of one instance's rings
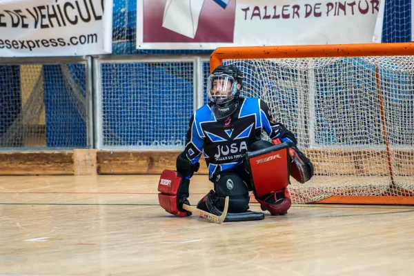
[[[175,170],[164,170],[158,182],[159,205],[168,213],[177,217],[188,217],[193,213],[182,208],[188,202],[189,179],[183,179],[181,174]]]

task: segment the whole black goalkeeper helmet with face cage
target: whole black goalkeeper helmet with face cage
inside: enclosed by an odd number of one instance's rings
[[[221,65],[208,77],[207,95],[211,102],[228,106],[239,96],[242,87],[242,71],[233,64]]]

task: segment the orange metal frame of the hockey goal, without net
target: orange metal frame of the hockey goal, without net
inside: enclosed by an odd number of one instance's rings
[[[210,72],[221,65],[225,59],[282,59],[306,57],[373,57],[373,56],[407,56],[414,55],[414,43],[362,43],[362,44],[331,44],[307,46],[244,46],[219,47],[210,55]],[[391,150],[385,124],[383,97],[380,88],[379,70],[375,70],[382,132],[386,144],[388,170],[391,187],[395,186],[393,167],[391,166]],[[306,184],[304,184],[306,185]],[[323,204],[397,204],[414,205],[414,194],[411,191],[399,190],[401,196],[331,196],[313,203]]]

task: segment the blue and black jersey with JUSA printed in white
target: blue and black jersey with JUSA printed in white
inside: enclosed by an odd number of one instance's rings
[[[278,138],[284,126],[270,117],[261,99],[239,98],[230,117],[215,118],[210,103],[191,116],[186,136],[186,157],[195,164],[204,152],[210,179],[215,173],[235,168],[244,161],[250,145],[261,139],[262,130]]]

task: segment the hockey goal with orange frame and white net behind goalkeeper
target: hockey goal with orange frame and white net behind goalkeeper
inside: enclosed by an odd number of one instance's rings
[[[313,161],[295,203],[414,204],[414,43],[224,47],[221,63]]]

